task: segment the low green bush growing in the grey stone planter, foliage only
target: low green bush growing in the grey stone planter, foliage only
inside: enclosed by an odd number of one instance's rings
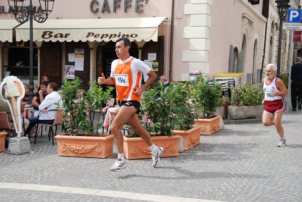
[[[232,98],[230,104],[234,106],[257,106],[261,105],[264,98],[262,85],[246,83],[231,88]]]

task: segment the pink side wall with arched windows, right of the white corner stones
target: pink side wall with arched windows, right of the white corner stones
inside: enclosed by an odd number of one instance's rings
[[[253,6],[262,14],[262,1],[260,5]],[[265,22],[254,15],[250,9],[240,1],[212,1],[211,7],[211,28],[210,28],[210,78],[214,74],[228,72],[230,45],[238,45],[242,49],[242,14],[249,14],[254,20],[255,28],[248,38],[248,56],[246,72],[252,73],[254,39],[258,35],[258,58],[257,68],[261,68],[261,54]]]

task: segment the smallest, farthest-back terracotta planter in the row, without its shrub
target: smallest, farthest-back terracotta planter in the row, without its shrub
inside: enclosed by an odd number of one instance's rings
[[[195,119],[196,125],[201,125],[200,135],[211,135],[217,131],[219,131],[219,119],[221,116],[216,116],[211,119],[202,119],[198,117]]]

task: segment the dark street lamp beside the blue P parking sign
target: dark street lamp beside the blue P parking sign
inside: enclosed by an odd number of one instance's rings
[[[281,45],[282,45],[282,26],[283,21],[286,17],[287,10],[289,8],[289,0],[276,0],[275,3],[277,3],[278,8],[278,14],[280,18],[280,24],[279,24],[279,42],[278,42],[278,61],[277,61],[277,77],[280,77],[280,69],[281,69]]]

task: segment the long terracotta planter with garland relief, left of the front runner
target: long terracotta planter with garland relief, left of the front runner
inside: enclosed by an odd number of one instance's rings
[[[65,134],[54,137],[58,143],[58,156],[107,158],[113,155],[113,135],[86,137]]]

